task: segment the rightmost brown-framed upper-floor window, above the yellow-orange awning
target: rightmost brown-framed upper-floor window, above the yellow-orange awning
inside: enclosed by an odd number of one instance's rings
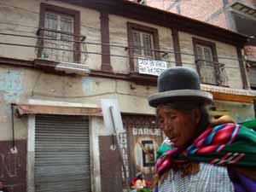
[[[193,38],[193,44],[201,83],[228,86],[224,64],[218,62],[216,45],[198,38]]]

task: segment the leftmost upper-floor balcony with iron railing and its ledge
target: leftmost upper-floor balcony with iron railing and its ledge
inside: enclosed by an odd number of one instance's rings
[[[88,73],[85,36],[51,29],[38,29],[38,59],[41,66],[53,65],[67,73]],[[42,64],[44,63],[44,64]]]

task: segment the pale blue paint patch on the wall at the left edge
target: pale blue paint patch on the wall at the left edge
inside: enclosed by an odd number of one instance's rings
[[[20,72],[0,73],[0,93],[5,102],[16,102],[22,92]]]

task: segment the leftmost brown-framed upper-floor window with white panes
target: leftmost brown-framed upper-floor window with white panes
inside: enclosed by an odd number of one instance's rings
[[[79,11],[41,4],[38,57],[51,61],[79,62]]]

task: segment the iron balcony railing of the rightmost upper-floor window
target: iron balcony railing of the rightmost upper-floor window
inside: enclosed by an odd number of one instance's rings
[[[229,86],[229,79],[224,64],[204,60],[197,60],[195,62],[200,73],[201,83]]]

